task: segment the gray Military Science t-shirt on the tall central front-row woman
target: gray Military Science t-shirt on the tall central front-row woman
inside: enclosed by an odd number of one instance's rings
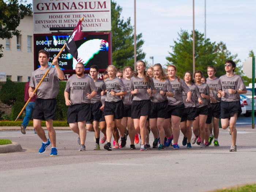
[[[150,94],[147,93],[147,89],[155,90],[153,79],[150,78],[150,83],[144,82],[144,78],[139,78],[138,76],[132,77],[130,90],[133,91],[138,89],[138,93],[133,95],[133,101],[143,101],[150,99]]]

